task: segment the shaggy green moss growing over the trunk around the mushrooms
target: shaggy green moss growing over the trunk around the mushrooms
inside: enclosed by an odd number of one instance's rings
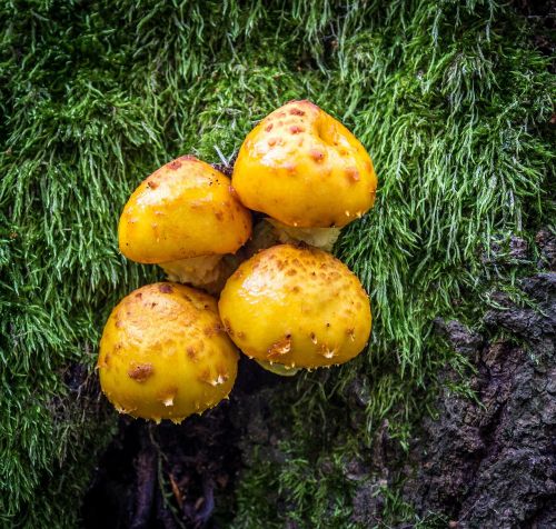
[[[554,216],[554,76],[528,27],[471,0],[13,1],[0,27],[0,521],[75,525],[110,437],[115,415],[63,372],[78,362],[93,377],[110,308],[160,277],[117,252],[129,191],[175,156],[232,154],[272,108],[310,98],[354,129],[379,174],[375,210],[337,248],[371,293],[373,341],[276,396],[286,459],[250,467],[225,518],[349,527],[346,457],[365,457],[385,419],[407,446],[438,369],[465,369],[431,320],[471,318],[485,281],[510,286],[484,249]],[[357,417],[355,379],[367,388]],[[411,519],[396,495],[387,512]]]

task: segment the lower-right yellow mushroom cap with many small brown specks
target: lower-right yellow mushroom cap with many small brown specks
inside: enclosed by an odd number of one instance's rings
[[[316,368],[356,357],[370,333],[370,303],[357,277],[330,253],[280,244],[245,261],[218,303],[249,357]]]

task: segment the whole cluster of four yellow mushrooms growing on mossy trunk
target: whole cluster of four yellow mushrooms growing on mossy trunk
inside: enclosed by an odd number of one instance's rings
[[[201,413],[228,398],[238,349],[286,376],[355,358],[369,298],[329,251],[376,187],[361,143],[309,101],[255,127],[231,180],[192,156],[143,180],[119,248],[168,281],[128,295],[106,323],[97,366],[118,411],[157,422]]]

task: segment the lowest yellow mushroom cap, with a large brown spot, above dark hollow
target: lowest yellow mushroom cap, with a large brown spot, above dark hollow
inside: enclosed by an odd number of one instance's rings
[[[180,422],[228,396],[238,359],[212,297],[160,282],[112,310],[98,368],[102,391],[120,412]]]

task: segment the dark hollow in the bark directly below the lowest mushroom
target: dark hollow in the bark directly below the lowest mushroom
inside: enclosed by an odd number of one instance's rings
[[[234,497],[242,445],[262,412],[265,388],[284,382],[242,358],[230,401],[176,426],[122,416],[82,508],[93,528],[216,528],[218,502]],[[249,435],[246,435],[249,432]],[[246,447],[246,450],[248,447]]]

